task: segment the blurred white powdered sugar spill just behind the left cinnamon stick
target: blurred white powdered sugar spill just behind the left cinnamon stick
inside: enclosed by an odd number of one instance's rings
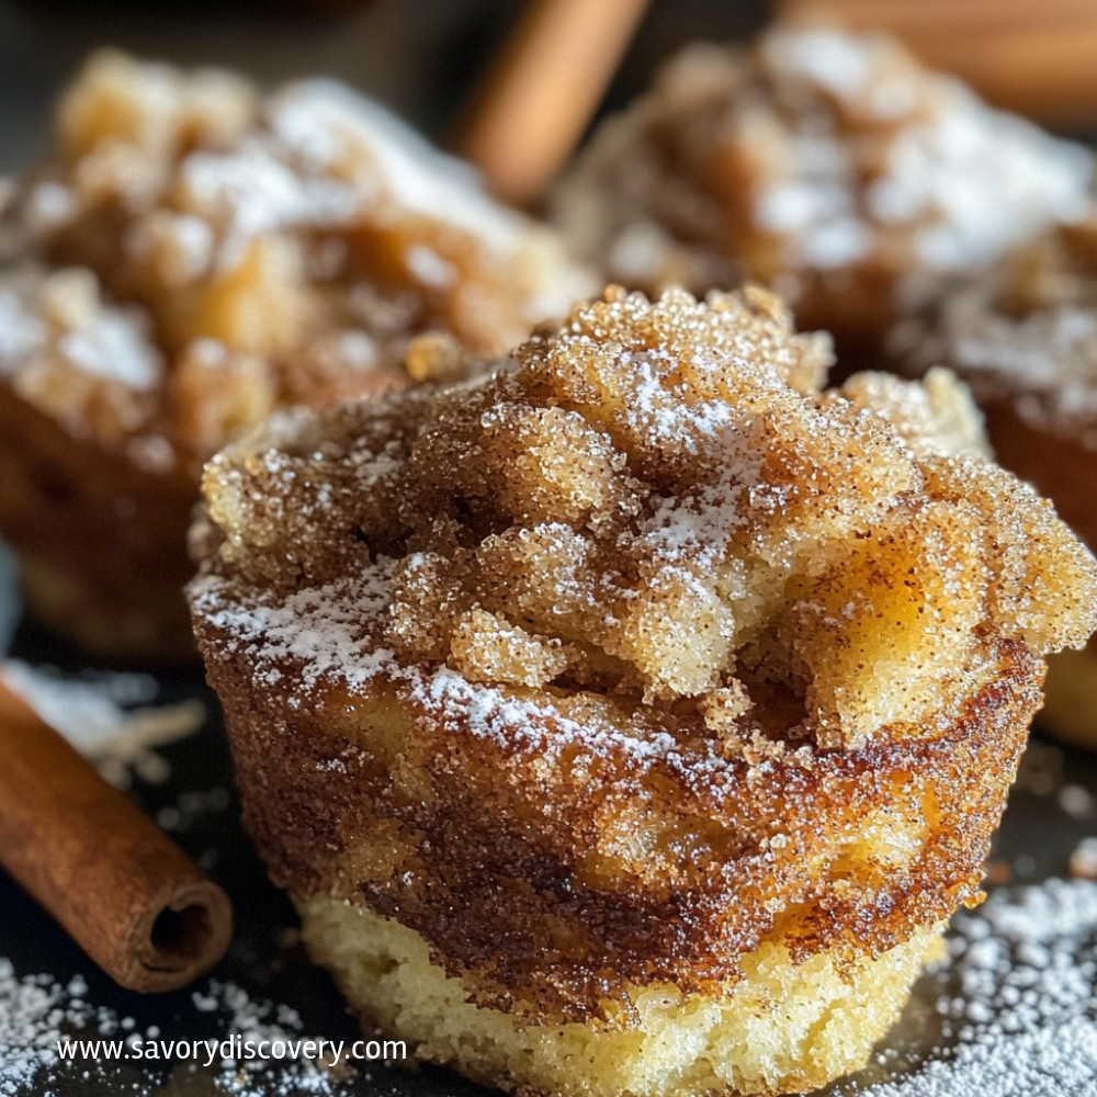
[[[16,659],[0,664],[0,675],[120,788],[126,788],[134,773],[149,782],[166,780],[168,764],[155,748],[192,735],[205,721],[197,700],[152,704],[159,687],[148,675],[66,677]]]

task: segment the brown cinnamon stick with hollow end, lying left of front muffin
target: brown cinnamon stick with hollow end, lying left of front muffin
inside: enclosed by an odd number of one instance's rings
[[[2,678],[0,861],[129,989],[177,989],[228,947],[225,893]]]

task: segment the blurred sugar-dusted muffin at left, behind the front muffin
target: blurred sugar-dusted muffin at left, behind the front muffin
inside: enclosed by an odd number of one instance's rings
[[[275,407],[462,372],[592,289],[556,235],[331,81],[94,56],[0,222],[0,534],[108,658],[193,656],[202,463]]]

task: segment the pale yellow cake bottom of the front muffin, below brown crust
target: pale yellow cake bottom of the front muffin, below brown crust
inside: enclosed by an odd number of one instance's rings
[[[701,1097],[814,1089],[863,1065],[897,1017],[923,963],[940,950],[928,926],[855,971],[826,952],[793,964],[765,945],[717,998],[672,984],[632,989],[632,1024],[519,1024],[468,1000],[465,981],[431,961],[415,930],[327,896],[298,904],[313,958],[367,1027],[415,1058],[512,1093],[561,1097]]]

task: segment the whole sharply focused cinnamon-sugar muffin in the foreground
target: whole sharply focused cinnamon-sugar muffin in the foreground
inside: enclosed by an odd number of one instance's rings
[[[189,588],[246,822],[352,1007],[505,1089],[801,1092],[980,896],[1097,564],[964,391],[761,290],[276,418]]]

